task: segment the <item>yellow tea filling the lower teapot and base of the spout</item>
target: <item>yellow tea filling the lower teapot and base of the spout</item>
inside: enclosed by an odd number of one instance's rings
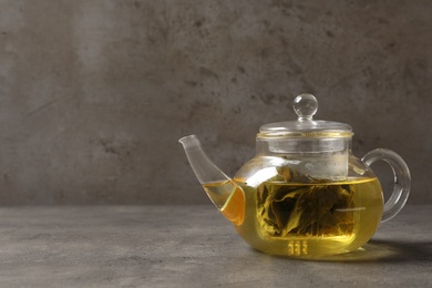
[[[291,257],[357,249],[372,237],[383,209],[376,177],[306,184],[269,181],[258,187],[224,181],[203,187],[251,247]]]

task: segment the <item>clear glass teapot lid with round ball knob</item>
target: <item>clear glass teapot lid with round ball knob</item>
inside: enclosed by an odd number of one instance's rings
[[[294,101],[297,121],[277,122],[263,125],[258,137],[351,137],[352,127],[344,123],[313,120],[318,101],[311,94],[300,94]]]

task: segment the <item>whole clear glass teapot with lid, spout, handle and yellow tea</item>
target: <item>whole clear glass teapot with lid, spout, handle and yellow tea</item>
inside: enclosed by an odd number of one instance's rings
[[[256,156],[234,178],[206,156],[195,135],[179,142],[208,197],[255,249],[298,258],[356,250],[404,206],[409,168],[389,150],[371,151],[361,161],[353,156],[351,126],[313,120],[313,95],[297,96],[294,110],[297,121],[259,128]],[[380,160],[394,173],[385,204],[370,168]]]

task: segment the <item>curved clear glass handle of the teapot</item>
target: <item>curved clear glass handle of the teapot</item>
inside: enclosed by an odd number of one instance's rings
[[[411,175],[407,163],[397,153],[385,148],[377,148],[367,153],[361,161],[370,166],[377,161],[387,162],[393,169],[394,186],[393,193],[384,204],[381,222],[393,218],[405,205],[411,187]]]

